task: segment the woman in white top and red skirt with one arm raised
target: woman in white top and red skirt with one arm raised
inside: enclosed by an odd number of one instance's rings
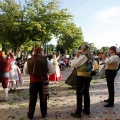
[[[54,65],[55,73],[49,75],[49,81],[60,81],[62,76],[60,72],[60,68],[58,65],[58,59],[60,58],[60,51],[58,57],[56,57],[56,54],[52,55],[52,59],[50,60],[51,63]]]

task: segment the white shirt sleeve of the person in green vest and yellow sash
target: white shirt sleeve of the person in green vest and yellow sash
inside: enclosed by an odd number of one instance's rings
[[[79,58],[75,58],[71,61],[71,67],[77,68],[87,62],[88,58],[85,55],[81,55]]]

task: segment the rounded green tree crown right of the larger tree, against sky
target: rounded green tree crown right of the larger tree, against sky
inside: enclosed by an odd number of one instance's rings
[[[83,44],[83,33],[81,28],[76,27],[73,23],[65,24],[58,45],[71,52],[78,49],[81,44]]]

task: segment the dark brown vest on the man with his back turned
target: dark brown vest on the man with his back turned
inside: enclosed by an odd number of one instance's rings
[[[40,76],[48,73],[47,59],[44,57],[30,58],[27,61],[27,65],[29,75]]]

